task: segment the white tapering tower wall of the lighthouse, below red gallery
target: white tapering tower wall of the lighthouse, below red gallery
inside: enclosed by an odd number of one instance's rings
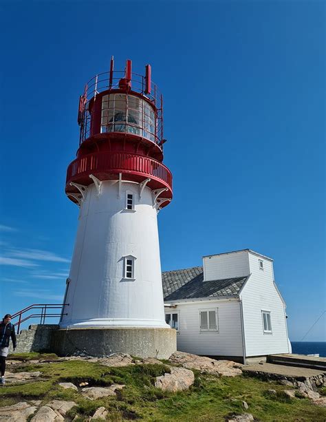
[[[126,210],[125,192],[135,198]],[[123,257],[133,255],[135,280],[123,279]],[[61,327],[168,327],[164,320],[157,211],[151,189],[139,198],[138,184],[91,184],[80,218]]]

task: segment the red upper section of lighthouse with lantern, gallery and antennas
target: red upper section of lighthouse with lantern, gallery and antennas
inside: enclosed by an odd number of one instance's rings
[[[124,71],[98,74],[86,84],[79,98],[80,143],[77,158],[67,169],[65,191],[80,204],[76,184],[88,186],[98,180],[144,182],[157,196],[158,209],[172,198],[171,171],[163,160],[163,99],[145,75]],[[91,177],[89,177],[91,176]]]

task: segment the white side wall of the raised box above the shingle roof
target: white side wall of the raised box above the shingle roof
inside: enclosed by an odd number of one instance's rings
[[[203,257],[203,267],[205,282],[249,275],[248,251]]]

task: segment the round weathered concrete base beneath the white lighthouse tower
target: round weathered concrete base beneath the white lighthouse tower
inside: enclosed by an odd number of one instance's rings
[[[177,350],[177,337],[171,328],[73,328],[54,331],[52,350],[61,356],[126,353],[169,359]]]

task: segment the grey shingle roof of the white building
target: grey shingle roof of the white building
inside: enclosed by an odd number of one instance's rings
[[[237,297],[248,276],[204,282],[202,266],[162,273],[164,301]]]

